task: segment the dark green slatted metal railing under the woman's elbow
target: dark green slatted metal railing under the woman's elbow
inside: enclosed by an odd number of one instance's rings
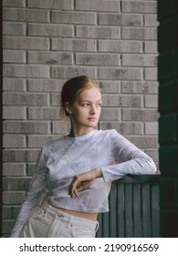
[[[96,237],[160,237],[159,177],[131,175],[113,182],[110,212],[99,214]]]

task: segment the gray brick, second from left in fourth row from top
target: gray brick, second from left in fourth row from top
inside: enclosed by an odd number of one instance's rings
[[[94,39],[52,38],[52,50],[96,52],[97,42]]]

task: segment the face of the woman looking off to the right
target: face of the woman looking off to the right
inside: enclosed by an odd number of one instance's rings
[[[101,93],[99,89],[91,87],[79,93],[70,108],[73,127],[82,130],[83,133],[92,131],[99,121],[100,107]]]

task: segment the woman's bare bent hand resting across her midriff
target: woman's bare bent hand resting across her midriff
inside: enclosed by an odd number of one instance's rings
[[[102,172],[100,168],[95,168],[90,170],[89,172],[74,176],[68,188],[68,195],[70,197],[73,197],[74,195],[76,197],[79,197],[79,191],[86,187],[89,187],[94,179],[101,176]]]

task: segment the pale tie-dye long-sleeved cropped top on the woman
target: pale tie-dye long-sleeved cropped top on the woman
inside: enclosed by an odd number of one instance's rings
[[[69,197],[73,176],[100,167],[102,176]],[[44,144],[31,185],[22,204],[11,237],[19,237],[26,219],[44,194],[50,205],[83,212],[109,211],[111,181],[127,174],[153,174],[152,158],[115,130],[94,130],[79,137],[61,136]]]

